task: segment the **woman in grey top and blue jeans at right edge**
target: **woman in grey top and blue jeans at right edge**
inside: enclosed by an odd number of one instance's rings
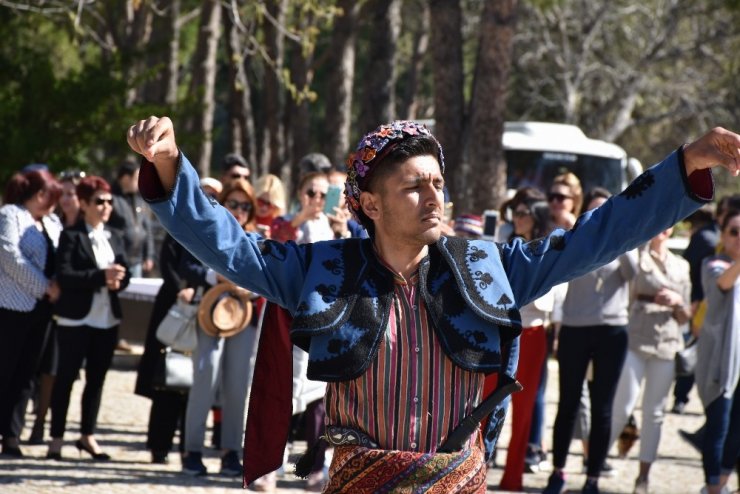
[[[727,480],[740,454],[740,211],[730,210],[720,231],[720,253],[704,260],[707,301],[694,372],[707,417],[703,493],[729,492]]]

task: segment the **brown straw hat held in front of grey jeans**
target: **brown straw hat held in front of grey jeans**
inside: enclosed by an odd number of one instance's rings
[[[198,305],[198,324],[209,336],[228,338],[252,320],[250,292],[233,283],[219,283],[208,290]]]

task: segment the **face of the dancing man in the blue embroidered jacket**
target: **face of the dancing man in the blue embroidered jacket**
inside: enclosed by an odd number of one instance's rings
[[[403,162],[373,196],[378,211],[376,235],[419,246],[436,242],[441,235],[444,178],[437,159],[415,156]]]

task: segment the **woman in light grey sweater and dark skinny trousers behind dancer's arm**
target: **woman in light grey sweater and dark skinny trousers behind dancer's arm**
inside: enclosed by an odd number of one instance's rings
[[[609,195],[605,189],[594,188],[586,201],[587,210],[600,207]],[[584,444],[587,478],[581,492],[599,492],[599,477],[606,473],[614,394],[627,355],[629,281],[636,274],[637,253],[630,251],[568,282],[557,346],[560,401],[553,426],[553,473],[543,494],[559,494],[565,487],[563,469],[589,364],[593,368],[588,386],[591,427]]]

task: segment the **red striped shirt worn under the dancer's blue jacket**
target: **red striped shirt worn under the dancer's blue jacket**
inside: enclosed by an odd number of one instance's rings
[[[435,452],[480,402],[484,375],[445,355],[417,284],[416,274],[396,276],[378,355],[362,376],[327,385],[326,423],[364,432],[383,449]]]

